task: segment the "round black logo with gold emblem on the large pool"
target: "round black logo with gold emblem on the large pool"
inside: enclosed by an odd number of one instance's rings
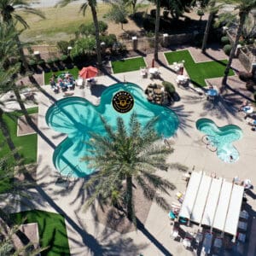
[[[113,108],[119,113],[127,113],[133,108],[133,96],[125,90],[121,90],[113,96]]]

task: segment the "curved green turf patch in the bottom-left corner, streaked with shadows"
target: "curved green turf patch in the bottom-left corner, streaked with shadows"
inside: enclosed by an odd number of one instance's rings
[[[16,224],[38,223],[40,247],[49,247],[42,256],[70,255],[65,218],[60,214],[32,210],[13,213],[11,218]]]

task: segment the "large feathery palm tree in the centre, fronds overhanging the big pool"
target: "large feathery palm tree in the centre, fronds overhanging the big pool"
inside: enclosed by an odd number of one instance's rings
[[[136,184],[147,199],[155,201],[165,210],[170,209],[160,192],[168,194],[167,189],[174,189],[175,186],[155,172],[167,171],[169,166],[183,170],[185,167],[166,163],[166,157],[173,149],[158,142],[160,137],[154,131],[154,121],[152,119],[142,127],[133,113],[129,128],[125,127],[123,119],[118,118],[115,131],[102,119],[107,135],[91,134],[88,143],[90,154],[83,159],[91,168],[98,170],[85,185],[91,192],[86,208],[96,200],[111,204],[125,209],[127,218],[136,225],[133,195]]]

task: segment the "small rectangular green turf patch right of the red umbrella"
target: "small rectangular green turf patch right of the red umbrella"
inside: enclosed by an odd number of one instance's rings
[[[146,67],[143,57],[125,59],[122,61],[112,61],[113,73],[123,73],[139,70],[140,67]]]

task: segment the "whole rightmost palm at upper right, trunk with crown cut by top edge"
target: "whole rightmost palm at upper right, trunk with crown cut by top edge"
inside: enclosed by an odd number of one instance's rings
[[[239,42],[239,38],[241,37],[242,28],[245,24],[245,20],[247,19],[247,15],[249,15],[252,9],[256,8],[256,0],[221,0],[219,1],[219,3],[221,4],[218,5],[218,8],[220,6],[224,6],[227,4],[233,4],[235,6],[235,10],[238,10],[238,16],[239,16],[239,24],[236,31],[236,38],[235,38],[234,44],[232,45],[229,61],[225,68],[224,78],[222,80],[222,84],[225,86],[227,84],[228,74],[230,72],[232,61],[235,57],[235,52]]]

